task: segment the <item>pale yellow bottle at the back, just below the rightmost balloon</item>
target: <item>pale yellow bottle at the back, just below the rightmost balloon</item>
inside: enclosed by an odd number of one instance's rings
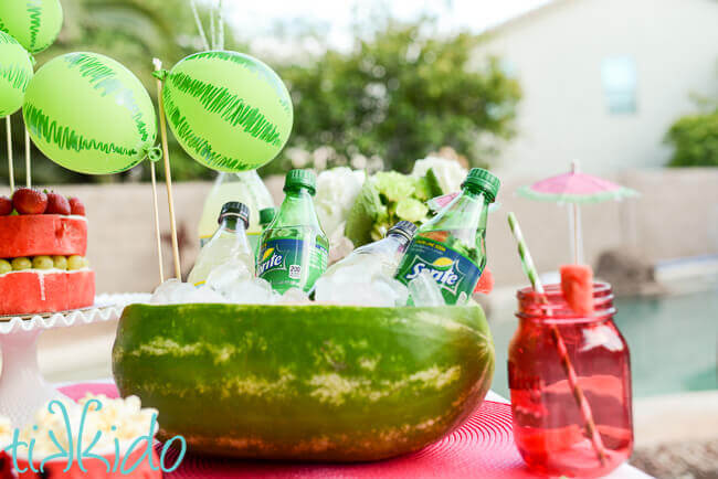
[[[239,173],[220,173],[212,190],[204,200],[202,217],[198,226],[200,246],[204,246],[217,231],[217,216],[228,201],[240,201],[250,209],[247,238],[252,251],[256,249],[262,230],[260,228],[260,210],[274,206],[270,191],[255,170]]]

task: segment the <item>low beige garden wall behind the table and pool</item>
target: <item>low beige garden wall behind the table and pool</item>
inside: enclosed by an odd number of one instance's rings
[[[642,193],[640,200],[602,203],[582,209],[585,255],[598,255],[629,244],[654,259],[718,254],[718,169],[632,170],[611,177]],[[282,178],[267,180],[278,204]],[[555,270],[570,259],[568,213],[552,203],[532,202],[514,193],[532,178],[506,179],[498,201],[501,209],[489,216],[488,264],[497,284],[522,283],[516,246],[506,225],[515,211],[540,270]],[[191,267],[199,244],[197,225],[211,183],[175,185],[183,269]],[[102,292],[149,291],[158,284],[158,266],[149,184],[64,185],[66,194],[82,198],[89,220],[88,257]],[[0,189],[0,194],[7,192]],[[160,219],[169,233],[166,193],[160,189]],[[163,243],[165,272],[171,274],[169,242]]]

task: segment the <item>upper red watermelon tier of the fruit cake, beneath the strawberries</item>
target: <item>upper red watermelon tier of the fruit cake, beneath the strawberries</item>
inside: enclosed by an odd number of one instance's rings
[[[0,258],[85,256],[87,220],[59,214],[0,216]]]

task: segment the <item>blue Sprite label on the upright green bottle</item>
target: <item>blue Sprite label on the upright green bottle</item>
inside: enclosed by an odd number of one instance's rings
[[[278,292],[289,288],[308,291],[327,269],[329,256],[323,245],[312,243],[297,238],[273,238],[264,242],[257,256],[256,275],[270,281]],[[310,245],[312,251],[305,252]]]

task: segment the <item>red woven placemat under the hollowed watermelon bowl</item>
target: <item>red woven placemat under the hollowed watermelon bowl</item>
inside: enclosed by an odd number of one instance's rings
[[[80,398],[86,393],[117,397],[112,384],[74,384],[61,391]],[[176,453],[166,464],[175,462]],[[298,464],[217,459],[188,455],[168,479],[213,478],[534,478],[514,445],[508,404],[485,402],[462,427],[424,449],[379,462]]]

